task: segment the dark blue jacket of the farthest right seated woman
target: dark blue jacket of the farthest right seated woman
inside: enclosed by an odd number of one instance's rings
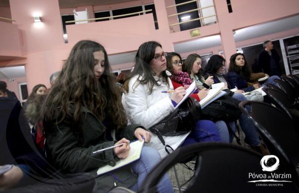
[[[247,81],[243,79],[240,75],[238,75],[236,72],[229,71],[227,73],[227,80],[231,86],[231,88],[237,87],[238,89],[241,89],[245,92],[250,92],[255,90],[253,86],[248,87]]]

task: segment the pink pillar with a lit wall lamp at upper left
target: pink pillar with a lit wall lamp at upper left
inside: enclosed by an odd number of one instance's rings
[[[58,0],[10,0],[11,16],[20,33],[22,55],[25,64],[28,90],[34,85],[49,83],[51,73],[61,66],[64,44]],[[39,13],[42,22],[34,22],[34,13]]]

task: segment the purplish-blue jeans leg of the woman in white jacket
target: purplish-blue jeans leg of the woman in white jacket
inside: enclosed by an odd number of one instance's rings
[[[221,137],[215,123],[210,120],[198,120],[195,128],[186,137],[181,146],[198,142],[215,142],[221,141]]]

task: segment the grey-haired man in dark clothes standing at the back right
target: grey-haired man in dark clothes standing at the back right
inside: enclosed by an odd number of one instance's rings
[[[263,43],[264,50],[258,57],[258,71],[264,72],[270,76],[281,76],[281,68],[279,66],[280,56],[277,51],[273,49],[273,43],[267,40]]]

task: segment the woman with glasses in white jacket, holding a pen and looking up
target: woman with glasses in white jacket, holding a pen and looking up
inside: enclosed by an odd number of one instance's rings
[[[173,85],[166,71],[166,53],[162,46],[155,41],[143,43],[135,56],[135,68],[124,84],[125,93],[122,97],[129,122],[140,123],[150,128],[169,115],[176,104],[186,94],[184,87],[178,87],[173,93],[161,93],[173,90]],[[199,120],[195,129],[177,136],[163,136],[165,143],[176,149],[203,141],[220,141],[215,124],[209,120]],[[151,141],[147,144],[158,150],[161,157],[167,155],[163,144],[152,133]]]

